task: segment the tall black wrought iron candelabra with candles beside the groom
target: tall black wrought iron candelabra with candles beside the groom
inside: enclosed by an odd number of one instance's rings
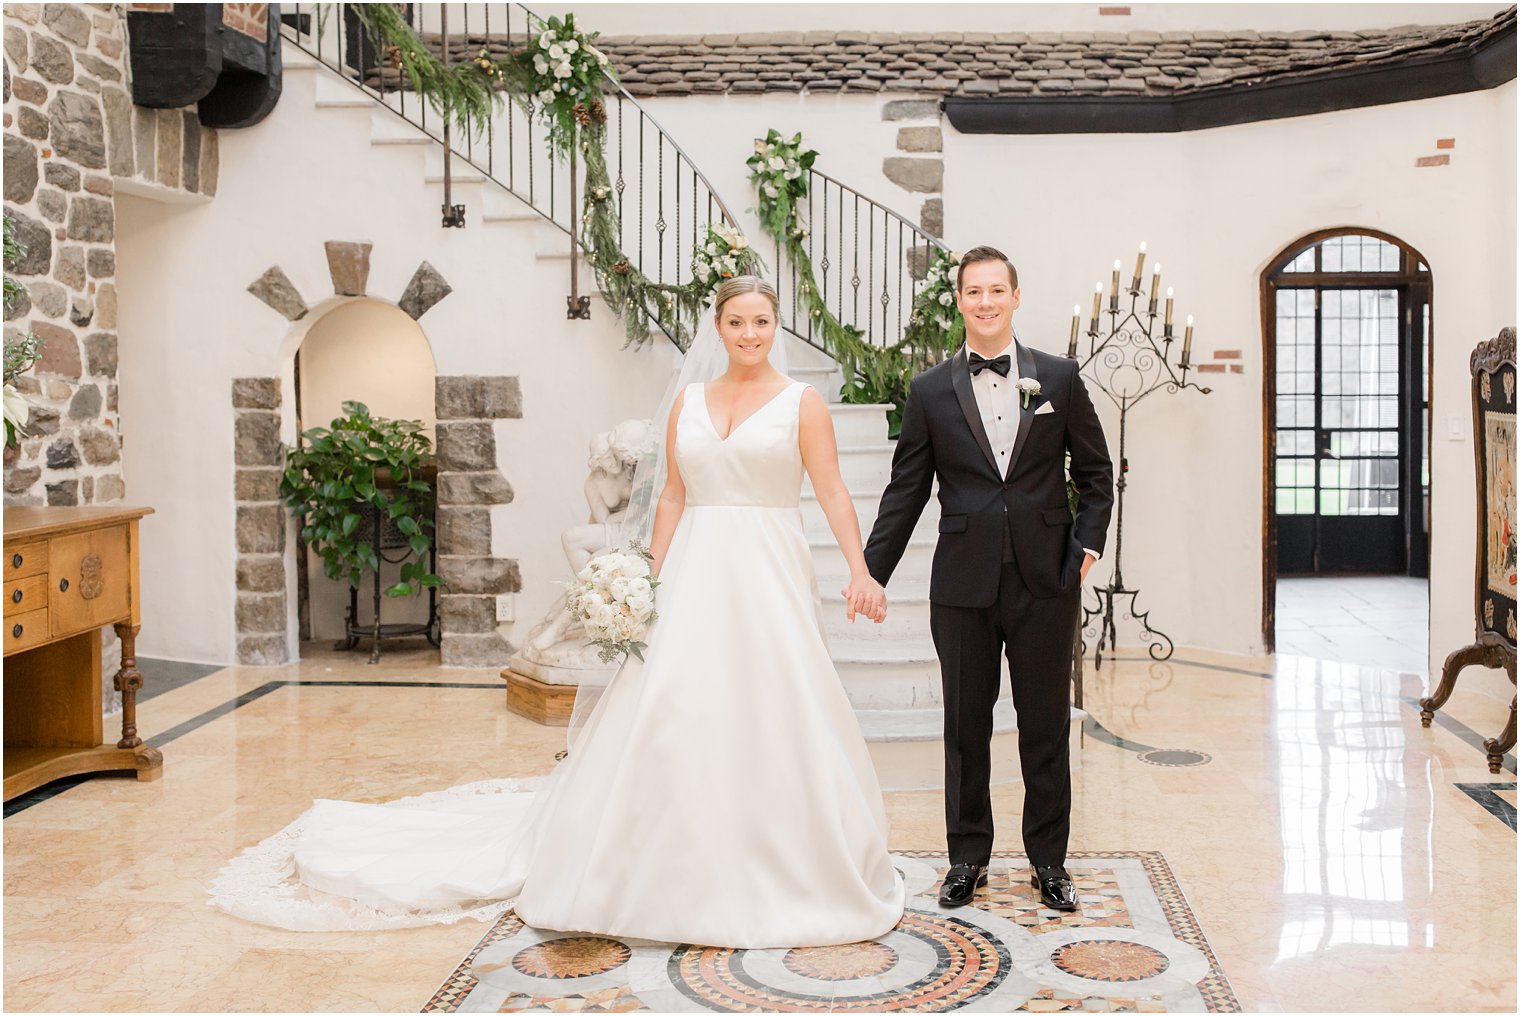
[[[1149,646],[1151,659],[1170,659],[1173,649],[1172,639],[1151,624],[1151,611],[1140,610],[1137,607],[1135,601],[1140,596],[1140,590],[1125,586],[1125,488],[1129,485],[1129,459],[1125,452],[1129,411],[1134,409],[1146,395],[1160,389],[1176,392],[1184,388],[1193,388],[1205,395],[1211,391],[1210,388],[1199,386],[1198,382],[1187,380],[1187,371],[1193,368],[1192,316],[1187,318],[1187,327],[1183,335],[1181,356],[1178,357],[1176,367],[1172,367],[1172,289],[1166,291],[1161,339],[1157,342],[1155,325],[1157,303],[1161,287],[1161,266],[1157,265],[1151,272],[1149,303],[1142,310],[1140,301],[1143,294],[1140,280],[1143,271],[1145,243],[1140,245],[1140,256],[1135,259],[1134,278],[1125,292],[1125,295],[1129,297],[1129,310],[1122,312],[1119,306],[1122,295],[1119,283],[1120,263],[1117,260],[1114,262],[1114,275],[1107,301],[1107,332],[1100,329],[1100,318],[1104,313],[1104,284],[1097,283],[1093,292],[1093,313],[1085,332],[1087,356],[1081,360],[1081,367],[1078,368],[1119,409],[1119,476],[1114,482],[1117,497],[1117,503],[1114,506],[1114,570],[1107,586],[1093,590],[1096,595],[1093,607],[1087,607],[1085,604],[1082,605],[1082,633],[1084,636],[1097,639],[1093,656],[1094,666],[1104,665],[1105,648],[1113,649],[1117,645],[1117,621],[1114,616],[1116,604],[1125,598],[1128,598],[1129,605],[1123,613],[1123,619],[1137,621],[1140,624],[1142,637]],[[1081,316],[1082,309],[1078,306],[1072,312],[1072,342],[1067,348],[1067,356],[1072,359],[1078,357]],[[1087,639],[1084,637],[1078,649],[1078,668],[1081,668],[1081,656],[1085,651]],[[1081,687],[1081,684],[1078,684],[1078,687]]]

